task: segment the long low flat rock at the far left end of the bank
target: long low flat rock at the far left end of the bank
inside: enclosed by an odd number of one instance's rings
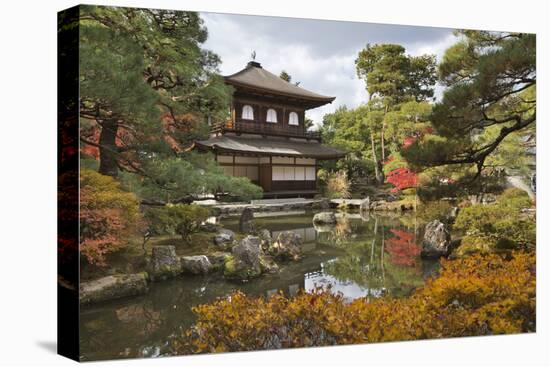
[[[80,303],[90,304],[147,293],[147,273],[109,275],[80,283]]]

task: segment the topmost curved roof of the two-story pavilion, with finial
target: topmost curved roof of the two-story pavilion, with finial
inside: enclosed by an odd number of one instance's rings
[[[259,62],[255,61],[249,62],[243,70],[235,74],[228,75],[224,78],[226,83],[236,87],[248,87],[258,89],[263,92],[315,102],[312,107],[318,107],[326,103],[330,103],[336,98],[323,96],[289,83],[277,75],[265,70]]]

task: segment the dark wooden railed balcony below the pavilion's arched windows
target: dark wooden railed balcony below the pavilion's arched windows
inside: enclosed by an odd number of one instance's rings
[[[248,133],[271,136],[285,136],[292,138],[315,139],[321,141],[321,134],[317,131],[304,131],[302,126],[282,125],[281,123],[268,123],[257,121],[233,121],[227,120],[212,125],[213,134],[224,132]]]

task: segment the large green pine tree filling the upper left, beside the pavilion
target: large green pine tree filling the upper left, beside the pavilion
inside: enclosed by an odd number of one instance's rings
[[[100,173],[144,173],[144,158],[169,154],[161,115],[191,130],[191,120],[225,111],[228,89],[218,56],[201,48],[207,31],[198,14],[81,9],[80,111],[99,129],[97,140],[83,133],[82,141],[99,148]]]

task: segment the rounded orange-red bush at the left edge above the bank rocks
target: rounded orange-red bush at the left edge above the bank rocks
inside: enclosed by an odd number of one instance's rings
[[[138,200],[110,176],[80,171],[80,253],[91,264],[124,247],[138,219]]]

